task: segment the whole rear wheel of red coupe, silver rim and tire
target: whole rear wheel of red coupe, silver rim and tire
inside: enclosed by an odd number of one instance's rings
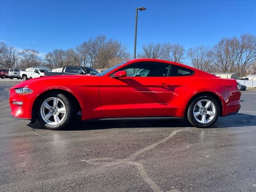
[[[197,128],[212,126],[219,117],[220,107],[212,96],[199,96],[190,102],[188,121]]]

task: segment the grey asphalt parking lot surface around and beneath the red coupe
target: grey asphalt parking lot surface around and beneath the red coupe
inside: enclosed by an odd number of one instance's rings
[[[17,82],[0,81],[0,191],[256,191],[255,90],[212,128],[108,120],[53,131],[6,116]]]

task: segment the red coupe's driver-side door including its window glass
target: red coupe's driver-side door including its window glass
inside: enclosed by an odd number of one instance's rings
[[[158,116],[166,110],[174,90],[169,64],[140,62],[120,70],[127,76],[100,82],[103,116]]]

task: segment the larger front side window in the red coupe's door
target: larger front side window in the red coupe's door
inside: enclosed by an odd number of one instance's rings
[[[132,77],[166,77],[169,67],[168,64],[142,62],[126,66],[120,70],[126,71],[127,76]]]

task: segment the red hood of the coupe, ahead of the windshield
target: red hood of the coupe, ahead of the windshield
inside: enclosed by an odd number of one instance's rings
[[[58,82],[68,82],[70,80],[74,80],[77,82],[80,82],[81,80],[87,80],[91,81],[94,78],[101,78],[101,76],[87,76],[87,75],[58,75],[58,76],[43,76],[43,77],[38,77],[34,79],[28,79],[24,82],[18,83],[12,88],[21,88],[21,87],[29,87],[30,85],[34,84],[42,84],[43,82],[52,82],[52,84],[56,84]]]

